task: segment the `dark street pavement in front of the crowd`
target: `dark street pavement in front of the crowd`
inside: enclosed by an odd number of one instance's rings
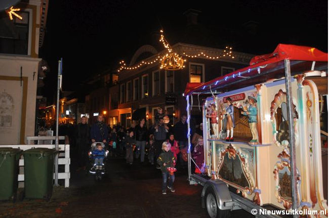
[[[49,202],[0,202],[0,217],[205,217],[202,186],[189,185],[186,169],[177,167],[176,192],[162,195],[161,172],[148,162],[127,165],[124,158],[110,157],[108,177],[95,181],[93,175],[76,172],[74,155],[71,158],[69,188],[54,188]],[[254,217],[243,210],[232,212],[232,217],[241,216]]]

